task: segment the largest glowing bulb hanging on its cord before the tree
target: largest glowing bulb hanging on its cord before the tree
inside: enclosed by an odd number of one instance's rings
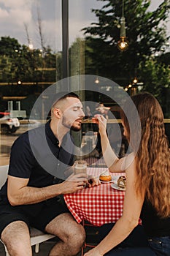
[[[125,34],[124,0],[122,7],[122,18],[120,18],[120,40],[117,42],[117,48],[121,51],[128,49],[128,40]]]

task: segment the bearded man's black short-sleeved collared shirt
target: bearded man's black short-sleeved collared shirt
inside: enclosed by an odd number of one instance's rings
[[[9,175],[29,178],[29,187],[47,187],[64,179],[64,171],[74,163],[74,144],[67,133],[61,146],[50,129],[45,126],[23,133],[12,145]],[[7,182],[0,197],[7,200]],[[5,198],[6,197],[6,198]]]

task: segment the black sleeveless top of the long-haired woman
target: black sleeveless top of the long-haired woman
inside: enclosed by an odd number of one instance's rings
[[[144,200],[141,212],[142,225],[150,237],[170,236],[170,217],[161,218],[150,202]]]

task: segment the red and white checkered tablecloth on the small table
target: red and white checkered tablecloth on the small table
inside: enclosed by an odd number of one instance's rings
[[[90,167],[88,174],[98,176],[104,170],[107,168]],[[120,175],[123,173],[112,173],[112,176]],[[78,223],[85,219],[93,225],[101,226],[116,222],[121,217],[125,192],[113,189],[111,184],[101,184],[64,195],[66,205]]]

